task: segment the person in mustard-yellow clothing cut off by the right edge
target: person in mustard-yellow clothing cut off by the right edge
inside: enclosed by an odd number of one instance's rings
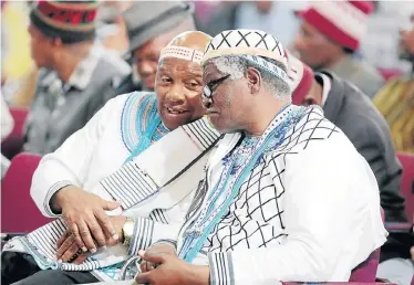
[[[414,14],[411,30],[401,31],[400,57],[411,62],[412,70],[392,78],[374,97],[374,104],[387,120],[399,151],[414,154]]]

